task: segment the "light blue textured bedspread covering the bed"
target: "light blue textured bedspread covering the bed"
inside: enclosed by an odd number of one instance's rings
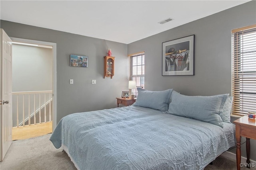
[[[50,140],[81,170],[200,170],[235,145],[234,131],[128,106],[67,115]]]

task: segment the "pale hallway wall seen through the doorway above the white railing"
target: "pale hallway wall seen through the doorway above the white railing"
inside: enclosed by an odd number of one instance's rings
[[[52,49],[12,45],[12,92],[52,90]]]

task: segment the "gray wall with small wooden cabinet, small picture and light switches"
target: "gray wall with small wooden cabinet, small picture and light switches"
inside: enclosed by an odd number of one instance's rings
[[[0,24],[10,37],[57,44],[57,123],[70,113],[116,107],[116,97],[128,90],[126,44],[4,20]],[[112,79],[103,78],[109,47],[116,57]],[[88,56],[88,68],[70,67],[70,54]],[[74,79],[74,84],[69,84],[69,79]],[[96,84],[91,84],[92,79]]]

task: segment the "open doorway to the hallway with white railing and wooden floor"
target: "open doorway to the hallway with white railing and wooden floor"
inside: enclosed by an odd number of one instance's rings
[[[34,49],[40,49],[42,50],[42,53],[52,54],[52,64],[50,64],[51,73],[48,71],[48,79],[51,79],[49,82],[52,84],[52,89],[49,88],[49,84],[46,85],[48,88],[43,86],[44,83],[40,82],[38,77],[34,77],[34,80],[24,80],[26,79],[24,74],[33,74],[32,76],[36,76],[36,72],[40,73],[38,68],[35,68],[35,70],[32,72],[30,68],[30,73],[23,71],[21,73],[23,78],[21,78],[20,81],[18,81],[18,76],[15,76],[15,80],[19,84],[19,88],[23,86],[23,88],[20,88],[23,90],[18,90],[17,92],[17,89],[15,90],[14,88],[13,91],[13,103],[16,103],[17,106],[17,109],[15,108],[16,110],[13,109],[12,111],[15,113],[13,115],[13,140],[26,139],[29,137],[36,137],[35,135],[40,136],[45,135],[45,133],[51,133],[56,127],[56,43],[13,37],[11,37],[11,39],[14,42],[14,47],[15,44],[17,44],[17,48],[24,47],[23,50],[32,50],[31,55],[33,55]],[[36,46],[36,48],[33,49],[33,46]],[[24,59],[25,58],[26,57],[24,57]],[[25,60],[27,63],[34,63],[30,66],[27,65],[27,67],[35,66],[38,62],[42,63],[44,61],[44,59],[42,61],[38,61],[38,59],[33,56],[30,56],[30,58],[26,58]],[[49,59],[46,60],[49,61]],[[13,63],[15,63],[15,57],[13,58]],[[24,61],[22,61],[22,63],[24,63]],[[41,71],[44,72],[46,70]],[[26,83],[20,84],[22,81],[30,82],[30,84],[32,84],[31,87],[27,88]],[[36,83],[33,83],[33,81]],[[13,87],[15,87],[14,82]],[[39,87],[41,90],[39,90],[37,87]]]

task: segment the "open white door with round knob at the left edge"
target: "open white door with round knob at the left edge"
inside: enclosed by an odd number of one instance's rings
[[[0,161],[2,161],[12,144],[12,40],[3,29],[0,29],[0,33]]]

